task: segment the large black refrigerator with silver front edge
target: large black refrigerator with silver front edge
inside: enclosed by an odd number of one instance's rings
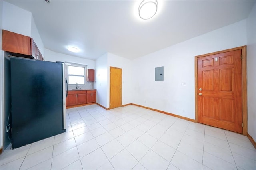
[[[10,57],[12,149],[66,131],[65,64]]]

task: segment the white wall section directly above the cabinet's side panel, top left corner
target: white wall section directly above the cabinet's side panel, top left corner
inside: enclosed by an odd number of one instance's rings
[[[31,36],[31,12],[8,2],[2,3],[2,29]]]

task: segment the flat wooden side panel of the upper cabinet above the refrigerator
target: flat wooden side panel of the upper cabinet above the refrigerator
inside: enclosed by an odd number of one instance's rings
[[[30,55],[30,37],[2,30],[2,50]]]

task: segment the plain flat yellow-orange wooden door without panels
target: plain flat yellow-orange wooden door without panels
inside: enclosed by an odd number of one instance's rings
[[[122,69],[110,67],[110,103],[113,109],[122,106]]]

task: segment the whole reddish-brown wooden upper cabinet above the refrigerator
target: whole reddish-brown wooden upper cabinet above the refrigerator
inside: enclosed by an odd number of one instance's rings
[[[2,30],[2,50],[17,57],[44,60],[33,38],[7,30]]]

